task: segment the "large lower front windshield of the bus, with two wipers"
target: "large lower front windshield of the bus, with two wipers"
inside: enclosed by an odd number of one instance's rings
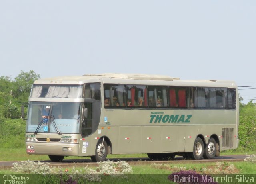
[[[29,102],[26,132],[79,133],[81,102]]]

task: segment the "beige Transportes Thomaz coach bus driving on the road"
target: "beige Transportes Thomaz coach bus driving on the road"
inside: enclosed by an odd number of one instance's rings
[[[230,80],[164,75],[87,74],[45,78],[28,98],[26,153],[106,160],[212,159],[238,147],[239,99]]]

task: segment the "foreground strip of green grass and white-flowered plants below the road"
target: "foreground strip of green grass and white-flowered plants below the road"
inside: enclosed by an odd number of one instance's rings
[[[0,174],[37,174],[39,183],[170,183],[174,175],[216,176],[216,174],[254,174],[256,155],[248,155],[244,162],[208,162],[186,164],[157,164],[130,166],[125,161],[98,162],[98,166],[85,167],[50,167],[47,163],[20,161],[10,170],[0,170]],[[50,174],[50,175],[49,175]],[[224,176],[224,175],[220,175]],[[234,177],[235,175],[228,175]],[[213,182],[207,182],[213,183]]]

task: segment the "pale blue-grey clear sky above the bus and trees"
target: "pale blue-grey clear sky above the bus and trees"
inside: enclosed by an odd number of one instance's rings
[[[254,86],[255,69],[255,0],[0,0],[0,76],[140,73]],[[239,93],[256,98],[256,89]]]

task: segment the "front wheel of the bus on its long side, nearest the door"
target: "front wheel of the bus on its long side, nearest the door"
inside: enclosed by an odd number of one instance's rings
[[[103,162],[106,160],[108,155],[108,144],[106,141],[103,141],[102,139],[98,141],[95,149],[95,155],[91,156],[92,161],[94,162]]]

